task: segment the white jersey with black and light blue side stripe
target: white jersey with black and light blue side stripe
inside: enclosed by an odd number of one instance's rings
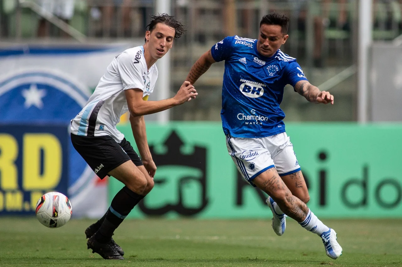
[[[71,121],[71,132],[78,136],[111,136],[120,143],[124,135],[116,125],[128,111],[124,90],[139,88],[143,97],[154,91],[158,69],[147,69],[144,47],[133,47],[115,57],[100,78],[85,107]]]

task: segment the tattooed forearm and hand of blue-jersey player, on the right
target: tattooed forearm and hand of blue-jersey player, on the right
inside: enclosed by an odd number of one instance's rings
[[[297,93],[306,97],[310,102],[323,104],[331,103],[334,105],[333,95],[326,91],[320,91],[318,87],[312,85],[308,81],[298,81],[294,88]]]

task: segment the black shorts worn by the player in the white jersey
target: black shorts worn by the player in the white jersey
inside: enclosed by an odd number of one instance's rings
[[[142,166],[142,160],[125,138],[117,143],[111,136],[77,136],[71,134],[71,142],[86,163],[100,179],[126,161]]]

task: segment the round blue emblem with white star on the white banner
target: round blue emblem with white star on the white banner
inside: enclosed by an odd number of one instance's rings
[[[88,95],[66,77],[49,71],[25,71],[0,81],[0,123],[68,125],[80,112]],[[73,185],[88,165],[69,142],[68,185]]]

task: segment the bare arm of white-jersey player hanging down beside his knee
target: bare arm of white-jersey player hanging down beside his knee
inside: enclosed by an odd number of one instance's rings
[[[142,163],[153,178],[156,172],[156,165],[154,160],[152,160],[152,155],[148,146],[144,116],[133,117],[130,115],[130,124],[135,144],[137,144],[139,154],[141,155]]]

